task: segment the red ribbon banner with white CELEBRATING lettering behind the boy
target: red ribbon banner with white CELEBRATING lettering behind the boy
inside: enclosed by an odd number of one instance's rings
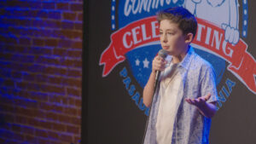
[[[198,29],[192,43],[230,62],[228,70],[256,94],[256,62],[247,52],[247,43],[241,39],[236,45],[224,40],[224,30],[206,20],[198,19]],[[106,77],[125,54],[146,43],[159,41],[158,22],[155,16],[137,20],[111,35],[111,43],[102,52],[100,65],[104,65],[102,77]]]

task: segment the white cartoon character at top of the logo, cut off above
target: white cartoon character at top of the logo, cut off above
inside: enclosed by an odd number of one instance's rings
[[[203,20],[221,26],[225,41],[236,44],[239,41],[239,13],[237,0],[185,0],[184,7]]]

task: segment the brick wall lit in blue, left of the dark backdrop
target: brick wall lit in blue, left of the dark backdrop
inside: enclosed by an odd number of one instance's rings
[[[83,0],[0,1],[0,143],[76,144]]]

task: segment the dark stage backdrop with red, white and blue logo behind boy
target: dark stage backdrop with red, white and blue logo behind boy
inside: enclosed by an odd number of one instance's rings
[[[218,112],[210,143],[256,143],[256,2],[91,0],[84,9],[82,138],[88,144],[141,144],[148,118],[143,87],[160,50],[155,13],[183,6],[198,20],[192,43],[217,74]]]

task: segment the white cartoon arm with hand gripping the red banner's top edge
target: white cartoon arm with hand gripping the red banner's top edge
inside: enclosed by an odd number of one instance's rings
[[[229,24],[222,24],[221,27],[225,30],[225,41],[236,44],[239,41],[238,30],[238,2],[237,0],[229,0],[230,5],[230,22]]]

